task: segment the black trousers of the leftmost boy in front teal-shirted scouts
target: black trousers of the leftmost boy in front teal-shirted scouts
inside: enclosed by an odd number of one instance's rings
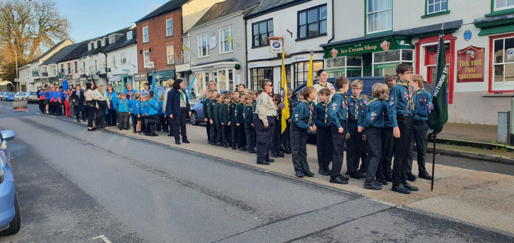
[[[307,163],[307,129],[291,124],[291,155],[295,171],[310,171]]]

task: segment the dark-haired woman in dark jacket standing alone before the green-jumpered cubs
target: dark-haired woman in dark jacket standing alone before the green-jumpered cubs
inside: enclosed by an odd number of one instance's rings
[[[180,144],[180,135],[182,135],[182,142],[189,143],[186,134],[186,114],[191,116],[191,106],[183,89],[184,83],[181,79],[175,80],[173,89],[168,92],[166,102],[166,114],[173,119],[173,134],[175,135],[175,144]]]

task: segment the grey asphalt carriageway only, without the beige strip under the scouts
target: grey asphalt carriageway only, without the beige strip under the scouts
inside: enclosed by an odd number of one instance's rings
[[[0,242],[514,241],[235,162],[86,132],[36,115],[35,105],[14,113],[9,104],[0,102],[0,129],[16,133],[8,147],[22,229]]]

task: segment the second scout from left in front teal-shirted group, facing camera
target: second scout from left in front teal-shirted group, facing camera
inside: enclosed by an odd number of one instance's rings
[[[318,104],[315,108],[316,121],[316,148],[318,150],[319,174],[328,176],[330,169],[328,165],[332,159],[332,134],[330,132],[330,122],[328,122],[328,98],[331,95],[328,88],[322,88],[318,91]]]

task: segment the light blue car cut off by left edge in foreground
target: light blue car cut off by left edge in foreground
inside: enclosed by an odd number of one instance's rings
[[[14,191],[14,177],[7,150],[7,141],[15,136],[11,130],[0,132],[0,236],[15,234],[21,227],[20,206]]]

